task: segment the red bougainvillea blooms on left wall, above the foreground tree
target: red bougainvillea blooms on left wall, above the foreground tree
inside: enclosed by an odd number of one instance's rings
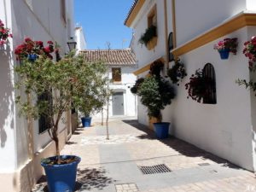
[[[15,48],[15,55],[17,55],[16,59],[22,60],[27,58],[28,55],[45,55],[52,59],[53,56],[50,54],[54,51],[57,53],[59,50],[55,49],[52,41],[48,41],[47,44],[48,46],[44,47],[42,41],[32,41],[31,38],[25,38],[25,42]]]

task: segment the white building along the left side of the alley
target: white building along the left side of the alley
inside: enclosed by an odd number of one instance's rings
[[[74,38],[73,0],[0,1],[0,20],[14,38],[0,49],[0,186],[1,191],[29,192],[43,174],[40,160],[55,154],[48,132],[40,132],[38,120],[28,124],[20,118],[15,105],[14,49],[25,38],[51,40],[61,46],[61,55],[69,51]],[[61,125],[61,148],[71,134],[70,113]]]

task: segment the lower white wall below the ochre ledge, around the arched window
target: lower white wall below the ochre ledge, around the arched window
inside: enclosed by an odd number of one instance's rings
[[[238,38],[237,55],[220,60],[216,44],[223,38]],[[219,38],[183,55],[188,77],[177,87],[175,103],[175,135],[199,148],[230,160],[238,166],[253,170],[252,118],[250,92],[236,84],[236,79],[249,79],[247,58],[242,54],[247,41],[247,28]],[[210,62],[215,68],[217,104],[201,104],[187,99],[184,84],[198,68]],[[166,112],[168,113],[168,112]]]

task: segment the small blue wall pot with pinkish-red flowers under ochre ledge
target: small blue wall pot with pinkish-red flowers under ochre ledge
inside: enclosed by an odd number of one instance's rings
[[[237,38],[224,38],[218,44],[214,44],[214,49],[218,50],[222,60],[226,60],[229,58],[230,52],[236,55],[237,45]]]

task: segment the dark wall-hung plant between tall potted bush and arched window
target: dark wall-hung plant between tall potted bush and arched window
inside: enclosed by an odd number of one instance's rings
[[[171,79],[172,84],[177,85],[179,85],[178,82],[182,81],[182,79],[187,76],[184,64],[179,58],[177,58],[172,68],[168,69],[167,75]]]

